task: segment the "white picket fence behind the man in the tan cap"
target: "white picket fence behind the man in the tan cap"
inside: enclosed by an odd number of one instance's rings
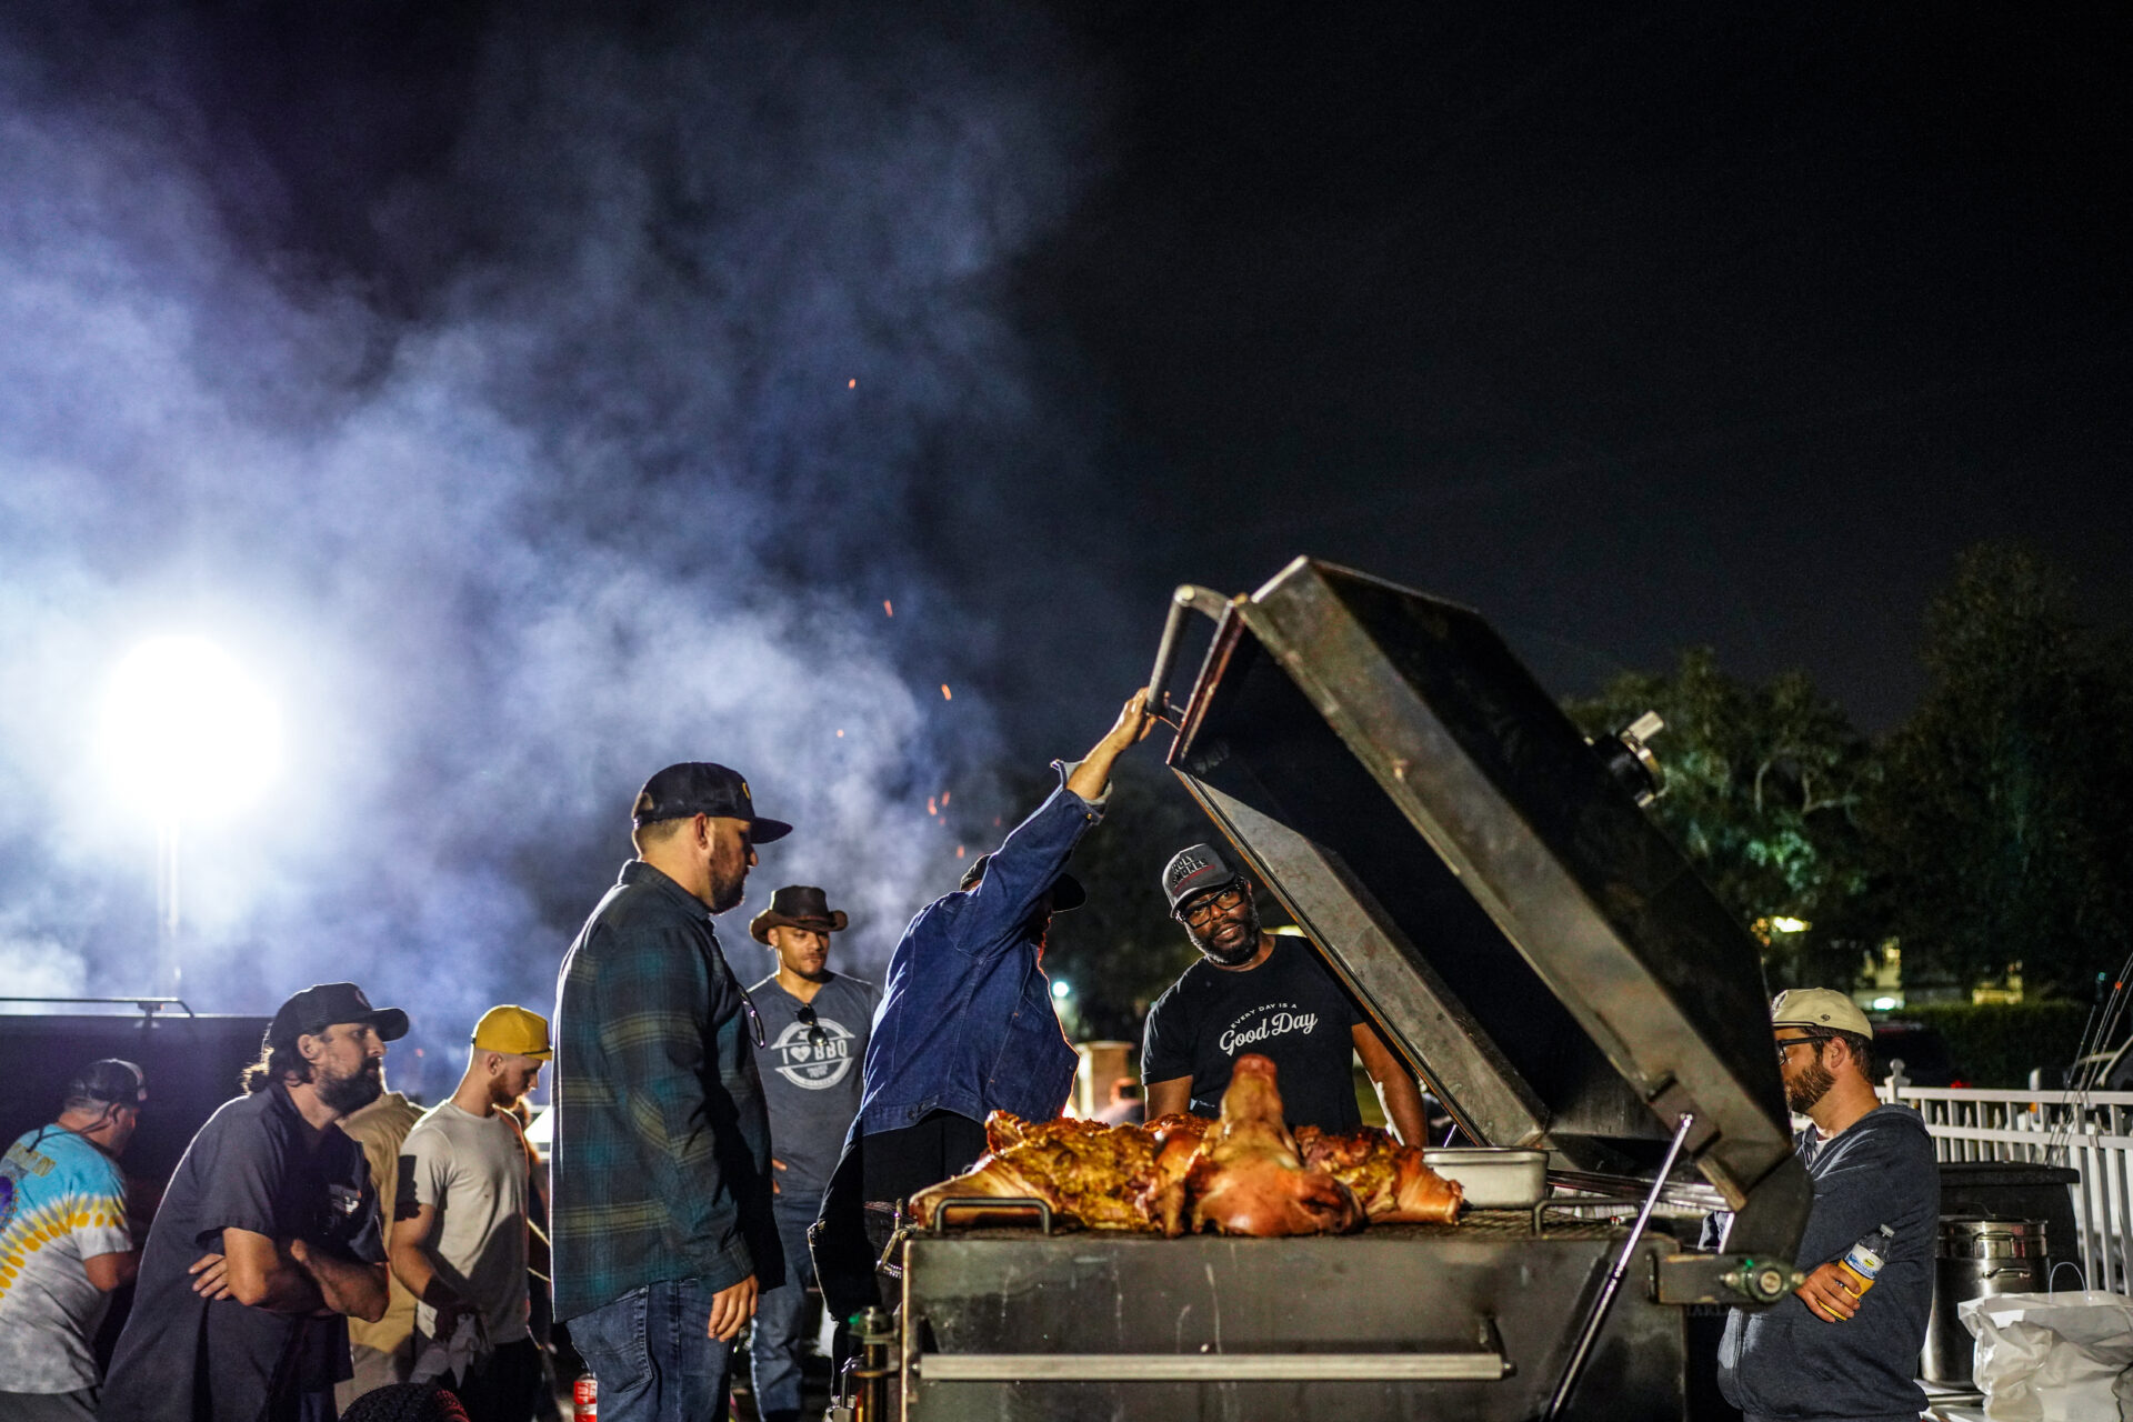
[[[1881,1087],[1926,1117],[1941,1160],[2073,1166],[2073,1215],[2088,1288],[2133,1292],[2133,1092]],[[2054,1254],[2058,1247],[2054,1245]],[[2073,1281],[2065,1279],[2071,1288]]]

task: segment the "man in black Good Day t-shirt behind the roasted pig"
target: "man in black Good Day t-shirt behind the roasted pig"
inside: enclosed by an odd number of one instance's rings
[[[1148,1008],[1141,1081],[1148,1119],[1220,1115],[1237,1057],[1254,1051],[1280,1072],[1288,1126],[1354,1130],[1350,1057],[1378,1083],[1384,1117],[1408,1145],[1425,1145],[1423,1094],[1303,938],[1258,927],[1248,885],[1207,844],[1171,857],[1162,893],[1201,962]]]

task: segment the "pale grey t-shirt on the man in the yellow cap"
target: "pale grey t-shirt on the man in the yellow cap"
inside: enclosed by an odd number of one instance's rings
[[[429,1256],[461,1298],[480,1305],[491,1347],[527,1337],[527,1164],[518,1121],[501,1111],[471,1115],[450,1100],[401,1143],[395,1213],[414,1219],[435,1207]],[[416,1326],[435,1337],[437,1311],[416,1305]]]

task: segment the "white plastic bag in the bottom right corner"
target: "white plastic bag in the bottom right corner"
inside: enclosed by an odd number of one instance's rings
[[[1990,1422],[2133,1418],[2133,1298],[2101,1290],[1964,1298]]]

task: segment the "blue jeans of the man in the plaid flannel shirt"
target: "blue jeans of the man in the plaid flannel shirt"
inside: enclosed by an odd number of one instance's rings
[[[599,1379],[599,1422],[719,1422],[732,1343],[710,1337],[702,1279],[634,1288],[570,1320],[570,1341]]]

